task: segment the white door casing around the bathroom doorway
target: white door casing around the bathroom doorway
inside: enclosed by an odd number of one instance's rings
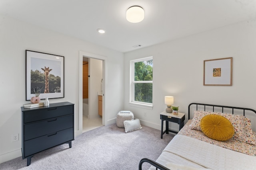
[[[96,54],[92,54],[92,53],[87,53],[84,51],[79,51],[79,106],[78,106],[78,117],[75,117],[75,120],[78,120],[78,130],[75,131],[75,135],[81,135],[83,132],[83,58],[86,57],[88,59],[98,59],[102,61],[102,125],[106,124],[106,113],[105,113],[105,84],[106,84],[106,60],[107,58],[101,55],[96,55]],[[90,63],[89,63],[90,64]],[[89,85],[90,86],[90,85]],[[89,87],[90,88],[90,87]],[[88,107],[90,109],[90,100],[92,100],[92,98],[97,98],[97,94],[96,96],[94,96],[95,94],[93,94],[93,96],[91,96],[91,92],[90,90],[88,91]],[[90,97],[91,96],[91,97]],[[89,111],[90,112],[90,111]]]

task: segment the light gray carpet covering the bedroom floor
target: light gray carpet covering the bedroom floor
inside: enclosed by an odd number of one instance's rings
[[[174,137],[160,138],[161,131],[143,129],[125,133],[116,124],[85,132],[72,141],[32,157],[30,166],[22,157],[0,164],[1,170],[138,170],[142,158],[156,160]],[[148,169],[148,163],[143,169]]]

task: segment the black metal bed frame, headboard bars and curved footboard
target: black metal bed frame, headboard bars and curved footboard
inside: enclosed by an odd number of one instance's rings
[[[222,105],[214,105],[214,104],[201,104],[201,103],[191,103],[188,105],[188,119],[190,119],[190,106],[192,105],[196,105],[196,110],[198,110],[198,105],[199,106],[204,106],[204,111],[206,111],[206,106],[212,106],[212,111],[214,112],[214,107],[221,107],[222,108],[222,113],[224,112],[224,108],[230,108],[232,109],[232,114],[234,114],[234,109],[238,109],[238,110],[243,110],[243,114],[245,116],[245,111],[253,111],[256,114],[256,110],[254,109],[249,109],[249,108],[244,108],[244,107],[232,107],[232,106],[222,106]],[[162,166],[161,164],[157,163],[154,160],[148,159],[148,158],[142,158],[140,160],[139,163],[139,170],[142,170],[142,164],[144,162],[148,162],[149,164],[153,165],[156,167],[156,170],[160,169],[160,170],[170,170],[168,168],[166,168],[165,166]]]

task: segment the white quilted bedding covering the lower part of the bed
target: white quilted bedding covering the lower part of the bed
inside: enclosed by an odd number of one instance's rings
[[[256,170],[255,156],[225,149],[184,135],[176,135],[156,162],[164,166],[169,166],[169,162],[171,162],[213,170]]]

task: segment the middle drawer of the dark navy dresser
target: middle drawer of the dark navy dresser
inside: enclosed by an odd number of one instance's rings
[[[73,115],[66,115],[24,125],[24,141],[73,127]]]

